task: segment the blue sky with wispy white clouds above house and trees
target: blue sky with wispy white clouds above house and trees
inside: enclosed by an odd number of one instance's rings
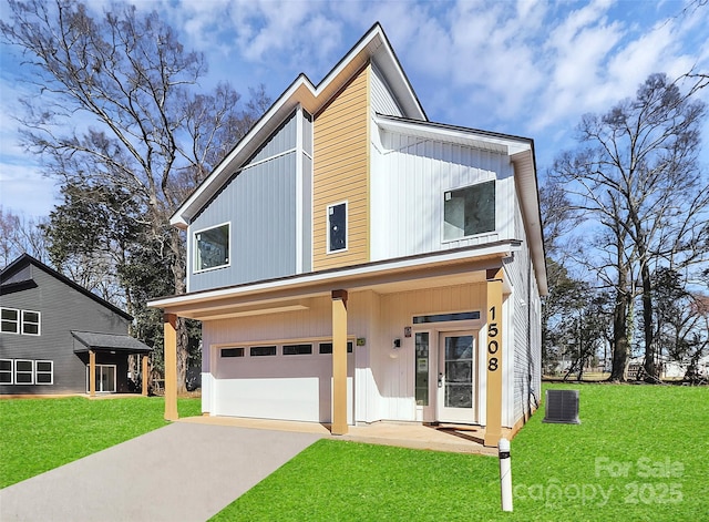
[[[582,114],[631,96],[653,72],[709,71],[709,4],[691,0],[134,3],[157,10],[187,49],[204,52],[205,89],[229,81],[246,94],[264,83],[273,99],[300,72],[319,82],[379,21],[430,120],[532,137],[540,174],[574,146]],[[89,4],[101,12],[104,2]],[[0,0],[3,19],[7,9]],[[43,216],[56,187],[18,144],[18,64],[0,44],[0,205]]]

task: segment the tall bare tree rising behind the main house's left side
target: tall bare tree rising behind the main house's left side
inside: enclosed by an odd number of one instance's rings
[[[24,101],[25,144],[64,185],[127,193],[143,242],[160,245],[154,263],[168,266],[174,293],[184,293],[184,239],[168,218],[256,117],[253,106],[240,110],[227,84],[195,93],[204,58],[155,12],[114,3],[93,17],[71,0],[8,3],[0,31],[33,65],[37,88]],[[187,334],[182,320],[177,328],[182,391]]]

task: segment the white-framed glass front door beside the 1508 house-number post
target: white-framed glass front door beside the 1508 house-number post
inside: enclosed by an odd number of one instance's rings
[[[476,418],[473,332],[442,332],[438,351],[438,420],[474,423]]]

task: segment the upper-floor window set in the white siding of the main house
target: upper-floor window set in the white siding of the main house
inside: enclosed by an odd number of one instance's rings
[[[448,191],[443,199],[443,239],[495,229],[494,181]]]

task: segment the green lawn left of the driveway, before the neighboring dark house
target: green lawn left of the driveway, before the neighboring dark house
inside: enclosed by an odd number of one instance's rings
[[[0,400],[0,488],[165,426],[160,397]],[[179,399],[179,414],[201,414]]]

